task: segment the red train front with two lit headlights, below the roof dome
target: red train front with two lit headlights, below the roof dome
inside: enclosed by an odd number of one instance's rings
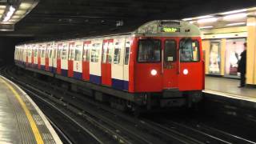
[[[202,98],[201,38],[137,38],[134,91],[147,105],[191,106]]]

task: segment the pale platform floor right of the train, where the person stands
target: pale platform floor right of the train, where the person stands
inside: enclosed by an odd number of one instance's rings
[[[208,93],[224,94],[235,98],[244,98],[256,102],[256,88],[242,87],[238,88],[239,79],[218,78],[206,76],[205,91]]]

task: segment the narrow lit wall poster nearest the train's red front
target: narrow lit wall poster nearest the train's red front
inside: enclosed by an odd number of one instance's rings
[[[210,42],[209,54],[209,74],[221,74],[221,44],[220,42]]]

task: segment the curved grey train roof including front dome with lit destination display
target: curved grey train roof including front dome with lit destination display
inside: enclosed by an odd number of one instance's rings
[[[102,37],[113,37],[120,35],[134,34],[138,36],[182,36],[182,37],[194,37],[200,36],[200,30],[198,26],[191,24],[190,22],[180,20],[154,20],[146,22],[142,26],[134,25],[130,28],[121,28],[115,30],[106,30],[96,34],[86,34],[79,38],[52,38],[44,39],[40,41],[22,42],[19,45],[34,44],[43,42],[59,42],[59,41],[75,41],[78,39],[89,39],[89,38],[102,38]]]

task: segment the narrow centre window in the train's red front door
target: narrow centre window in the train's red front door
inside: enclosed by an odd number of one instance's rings
[[[176,41],[166,40],[165,50],[164,50],[164,59],[165,62],[175,62],[177,57],[176,52]]]

